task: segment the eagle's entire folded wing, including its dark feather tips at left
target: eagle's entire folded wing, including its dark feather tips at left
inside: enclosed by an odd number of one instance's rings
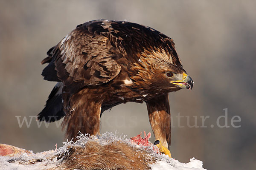
[[[85,85],[101,85],[116,77],[121,66],[115,58],[108,37],[93,31],[90,25],[78,26],[48,52],[42,61],[49,62],[43,70],[44,79],[62,81],[71,92]]]

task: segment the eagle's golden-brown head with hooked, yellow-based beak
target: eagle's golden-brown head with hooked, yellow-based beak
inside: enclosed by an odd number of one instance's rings
[[[182,68],[179,57],[174,55],[176,51],[172,51],[154,48],[138,54],[138,62],[134,62],[131,68],[134,75],[130,78],[135,84],[134,88],[154,93],[192,89],[192,78]]]

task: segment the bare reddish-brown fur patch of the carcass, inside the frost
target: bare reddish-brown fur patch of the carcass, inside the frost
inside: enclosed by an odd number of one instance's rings
[[[123,142],[100,145],[87,142],[84,147],[70,147],[61,164],[50,170],[149,170],[148,164],[154,158],[142,148],[129,146]]]

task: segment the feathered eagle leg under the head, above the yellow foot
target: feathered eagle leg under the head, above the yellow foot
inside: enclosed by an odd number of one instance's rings
[[[161,141],[164,147],[169,148],[171,144],[171,115],[168,94],[157,96],[146,103],[155,139]]]

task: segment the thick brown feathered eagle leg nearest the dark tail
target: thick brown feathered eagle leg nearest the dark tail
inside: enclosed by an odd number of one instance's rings
[[[62,128],[67,126],[65,136],[76,141],[79,133],[90,135],[99,134],[100,112],[102,102],[95,97],[95,89],[83,89],[70,97],[64,93],[64,109],[67,115],[62,122]],[[65,99],[67,98],[67,99]],[[70,98],[70,99],[68,99]]]

